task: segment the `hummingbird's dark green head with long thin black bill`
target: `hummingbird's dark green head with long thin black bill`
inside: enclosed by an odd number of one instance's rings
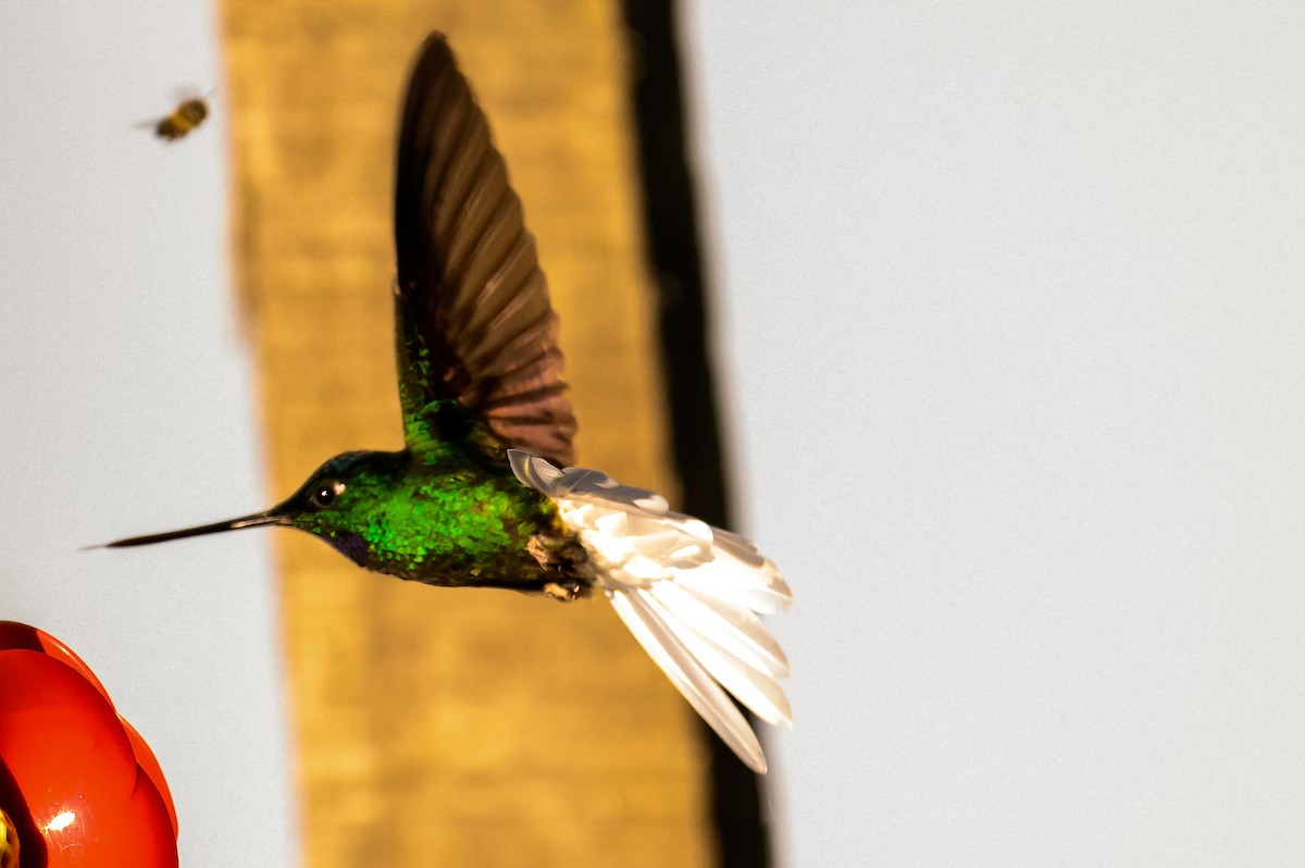
[[[271,509],[213,525],[119,539],[106,548],[281,525],[321,536],[347,557],[364,564],[369,548],[365,534],[376,527],[376,512],[389,501],[407,461],[405,452],[346,452],[315,470],[295,493]]]

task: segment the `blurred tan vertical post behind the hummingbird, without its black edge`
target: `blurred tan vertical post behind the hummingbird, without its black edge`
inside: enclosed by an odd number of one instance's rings
[[[669,488],[617,3],[226,0],[222,17],[274,493],[401,445],[393,137],[432,29],[539,239],[582,462]],[[431,589],[277,542],[308,864],[711,861],[690,714],[606,603]]]

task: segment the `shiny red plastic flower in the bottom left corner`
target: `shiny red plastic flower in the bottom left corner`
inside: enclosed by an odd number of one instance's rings
[[[0,621],[0,868],[175,867],[176,809],[154,752],[52,636]]]

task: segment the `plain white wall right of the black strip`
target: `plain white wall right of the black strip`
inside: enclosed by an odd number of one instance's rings
[[[689,3],[793,865],[1305,859],[1305,7]]]

